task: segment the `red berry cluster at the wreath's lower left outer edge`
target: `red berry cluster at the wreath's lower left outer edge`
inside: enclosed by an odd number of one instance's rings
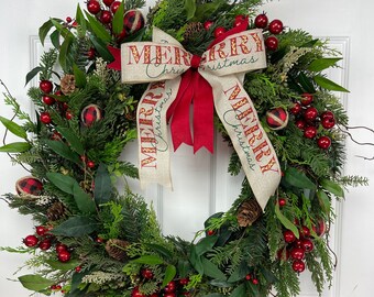
[[[69,262],[72,253],[69,249],[55,240],[55,237],[48,233],[52,229],[45,226],[36,226],[35,234],[28,235],[23,239],[23,243],[28,248],[38,248],[42,251],[48,251],[52,245],[55,245],[57,258],[62,263]]]

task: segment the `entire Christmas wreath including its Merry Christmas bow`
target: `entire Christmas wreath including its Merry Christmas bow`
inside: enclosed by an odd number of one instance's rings
[[[144,2],[88,0],[41,26],[53,48],[26,76],[40,81],[36,121],[6,89],[14,117],[0,120],[22,141],[0,151],[31,175],[3,198],[36,222],[23,246],[2,248],[32,255],[37,273],[19,280],[45,295],[287,297],[307,268],[321,294],[332,200],[366,183],[342,175],[348,118],[331,91],[346,90],[323,74],[339,53],[258,14],[261,0],[161,0],[147,21]],[[193,242],[163,235],[152,207],[114,186],[170,186],[167,122],[174,147],[195,151],[212,152],[216,125],[233,147],[229,173],[245,173]],[[136,136],[139,169],[119,158]]]

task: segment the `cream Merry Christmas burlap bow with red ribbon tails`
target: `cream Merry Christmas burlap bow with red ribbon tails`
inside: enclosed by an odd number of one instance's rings
[[[212,152],[211,109],[215,105],[251,188],[264,209],[279,184],[280,167],[243,88],[244,73],[266,67],[261,30],[234,29],[216,40],[198,57],[154,28],[153,42],[123,43],[120,58],[123,82],[151,82],[138,108],[142,186],[157,183],[172,187],[168,119],[172,120],[175,148],[185,142],[194,145],[195,152],[202,146]],[[116,63],[112,65],[114,68]],[[194,135],[189,128],[191,101]]]

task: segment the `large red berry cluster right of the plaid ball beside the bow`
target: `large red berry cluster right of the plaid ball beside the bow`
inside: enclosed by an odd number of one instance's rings
[[[331,111],[327,110],[319,114],[318,110],[311,105],[314,96],[311,94],[302,94],[301,100],[295,102],[289,112],[295,116],[295,124],[304,131],[304,136],[307,139],[316,139],[318,128],[321,125],[324,130],[330,130],[336,125],[336,119]],[[317,145],[320,148],[328,150],[331,145],[331,139],[327,135],[321,135],[317,139]]]

